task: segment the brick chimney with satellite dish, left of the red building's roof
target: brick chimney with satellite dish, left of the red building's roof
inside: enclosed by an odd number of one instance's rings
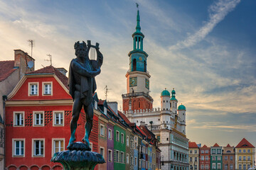
[[[19,69],[19,79],[28,72],[35,70],[35,60],[23,50],[14,50],[14,68]]]

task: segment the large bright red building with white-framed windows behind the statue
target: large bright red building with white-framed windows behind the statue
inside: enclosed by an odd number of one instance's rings
[[[73,99],[68,78],[52,66],[25,74],[6,101],[7,169],[62,169],[50,162],[55,152],[66,149],[70,137]],[[97,152],[98,117],[90,135]],[[85,114],[80,114],[76,139],[85,134]]]

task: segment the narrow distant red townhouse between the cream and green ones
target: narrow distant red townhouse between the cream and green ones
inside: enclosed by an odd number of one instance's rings
[[[203,145],[199,147],[200,159],[199,159],[199,169],[210,169],[210,147]]]

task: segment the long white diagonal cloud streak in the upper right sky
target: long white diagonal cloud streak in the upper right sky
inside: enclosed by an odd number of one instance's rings
[[[213,3],[208,10],[209,21],[204,24],[195,34],[188,36],[186,40],[178,42],[176,45],[171,46],[171,50],[182,49],[196,45],[196,43],[203,40],[208,33],[210,33],[220,21],[223,21],[225,16],[233,11],[235,6],[239,4],[240,0],[219,0]]]

